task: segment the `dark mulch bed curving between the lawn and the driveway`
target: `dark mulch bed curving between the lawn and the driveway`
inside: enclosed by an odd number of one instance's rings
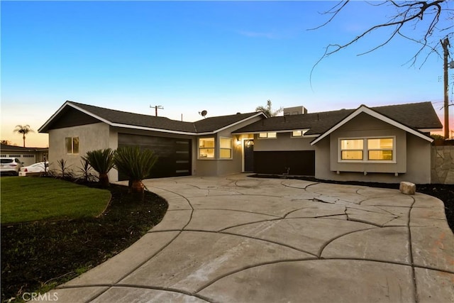
[[[93,187],[95,184],[88,184]],[[111,184],[111,203],[97,218],[1,226],[1,301],[45,292],[128,248],[167,211],[165,199]]]

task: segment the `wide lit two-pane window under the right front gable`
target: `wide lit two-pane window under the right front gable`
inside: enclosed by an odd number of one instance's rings
[[[341,138],[339,161],[394,162],[395,137]]]

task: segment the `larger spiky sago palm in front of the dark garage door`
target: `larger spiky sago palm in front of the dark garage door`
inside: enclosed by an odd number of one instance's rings
[[[142,193],[144,185],[142,180],[150,176],[150,172],[157,161],[153,150],[140,150],[139,146],[124,146],[118,148],[114,162],[118,172],[129,178],[131,192]]]

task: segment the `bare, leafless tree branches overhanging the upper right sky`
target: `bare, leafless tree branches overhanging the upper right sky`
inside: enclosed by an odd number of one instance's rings
[[[329,16],[328,20],[321,24],[321,26],[311,28],[311,30],[328,26],[328,23],[331,23],[341,11],[345,11],[350,2],[350,0],[338,1],[331,9],[322,13],[323,15]],[[424,51],[428,52],[427,56],[432,53],[440,55],[438,50],[442,43],[441,40],[453,36],[454,11],[452,4],[450,5],[450,1],[380,1],[367,2],[367,4],[377,7],[377,10],[380,6],[389,6],[394,13],[390,16],[383,16],[383,21],[381,23],[379,22],[375,26],[371,26],[347,43],[329,44],[326,46],[325,53],[320,60],[323,60],[323,58],[333,55],[344,48],[348,48],[348,46],[358,42],[358,40],[365,38],[375,31],[387,29],[389,30],[389,35],[384,41],[376,43],[375,46],[359,55],[371,53],[372,51],[377,50],[377,48],[386,45],[389,41],[400,37],[419,45],[419,49],[409,60],[411,65],[414,65],[417,57]],[[423,62],[425,62],[426,59],[424,59]]]

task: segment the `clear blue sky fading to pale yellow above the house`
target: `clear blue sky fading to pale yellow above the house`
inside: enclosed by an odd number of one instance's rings
[[[309,112],[432,101],[443,122],[441,57],[406,65],[418,45],[403,39],[358,56],[389,31],[322,60],[310,82],[326,45],[348,42],[392,13],[356,1],[307,31],[334,4],[1,1],[0,138],[22,145],[13,129],[29,124],[35,133],[26,145],[46,147],[38,128],[66,100],[150,115],[160,105],[160,116],[184,121],[201,119],[201,110],[255,111],[267,99],[276,109]]]

